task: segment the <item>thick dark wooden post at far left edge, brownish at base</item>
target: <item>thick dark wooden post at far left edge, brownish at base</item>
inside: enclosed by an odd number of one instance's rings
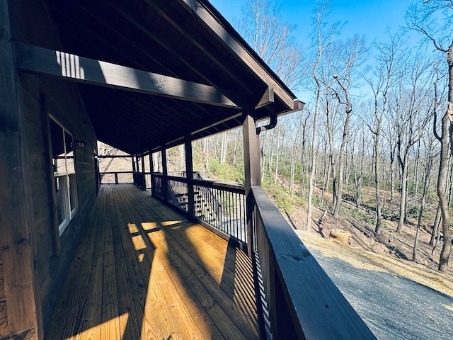
[[[42,312],[36,249],[25,109],[14,62],[8,0],[0,0],[0,258],[7,325],[1,339],[42,339]]]

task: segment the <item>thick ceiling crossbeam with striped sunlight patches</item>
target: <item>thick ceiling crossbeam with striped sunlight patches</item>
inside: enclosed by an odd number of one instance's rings
[[[23,72],[115,89],[176,98],[214,106],[238,108],[213,86],[132,69],[46,48],[15,44],[16,67]]]

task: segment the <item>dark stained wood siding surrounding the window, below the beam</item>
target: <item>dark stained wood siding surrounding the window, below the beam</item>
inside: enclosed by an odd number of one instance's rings
[[[93,154],[96,136],[84,113],[74,84],[35,76],[23,76],[23,98],[25,103],[28,157],[32,174],[31,193],[33,199],[33,235],[37,249],[36,263],[41,290],[44,324],[57,298],[57,293],[67,273],[68,264],[74,256],[75,246],[80,239],[86,215],[96,197],[96,182]],[[35,86],[38,83],[38,86]],[[79,211],[60,236],[61,251],[53,254],[52,244],[52,193],[48,181],[52,181],[48,159],[45,153],[46,128],[43,127],[40,94],[44,94],[46,112],[64,125],[77,140],[83,140],[86,147],[76,148],[77,191]],[[85,124],[85,125],[84,125]]]

